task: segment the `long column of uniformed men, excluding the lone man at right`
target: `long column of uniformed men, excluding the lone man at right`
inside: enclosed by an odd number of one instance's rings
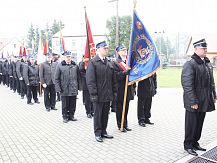
[[[0,61],[0,82],[18,92],[21,98],[26,94],[27,104],[32,105],[32,98],[39,103],[38,94],[40,83],[43,86],[44,105],[46,111],[56,110],[56,95],[62,101],[63,122],[76,121],[74,117],[78,90],[83,90],[83,103],[88,118],[94,117],[94,133],[96,141],[103,138],[113,138],[108,135],[106,128],[108,114],[112,104],[116,112],[117,127],[121,129],[123,98],[126,75],[129,69],[126,64],[127,49],[120,45],[116,48],[118,57],[111,61],[106,56],[108,46],[105,41],[96,45],[97,55],[86,64],[81,61],[78,65],[72,61],[69,51],[63,53],[64,59],[58,60],[58,55],[48,53],[46,61],[37,65],[33,56],[22,56],[10,61]],[[124,128],[122,132],[131,131],[128,127],[127,115],[130,100],[136,94],[136,85],[128,86]],[[145,127],[150,122],[152,97],[156,94],[156,74],[142,80],[137,86],[138,123]]]

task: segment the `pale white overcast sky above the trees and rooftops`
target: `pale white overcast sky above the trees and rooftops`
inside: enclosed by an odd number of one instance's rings
[[[91,28],[105,28],[106,19],[116,14],[109,0],[2,0],[0,38],[25,36],[28,27],[44,28],[54,19],[65,26],[84,22],[84,5]],[[132,15],[133,0],[119,0],[119,14]],[[150,32],[217,33],[216,0],[137,0],[137,13]],[[105,30],[105,29],[104,29]]]

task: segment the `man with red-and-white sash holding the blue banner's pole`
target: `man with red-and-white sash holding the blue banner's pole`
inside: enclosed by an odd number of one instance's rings
[[[120,130],[121,128],[121,121],[122,121],[122,111],[123,111],[123,101],[124,101],[124,92],[125,92],[125,83],[126,83],[126,75],[128,75],[130,69],[127,66],[127,48],[124,45],[119,45],[116,47],[116,52],[118,53],[118,57],[114,62],[114,69],[117,76],[118,81],[118,92],[117,92],[117,99],[116,99],[116,120],[117,126]],[[129,109],[129,102],[130,100],[134,99],[134,86],[128,86],[127,90],[127,99],[126,99],[126,108],[125,108],[125,115],[124,115],[124,128],[122,132],[131,131],[128,127],[127,121],[127,114]]]

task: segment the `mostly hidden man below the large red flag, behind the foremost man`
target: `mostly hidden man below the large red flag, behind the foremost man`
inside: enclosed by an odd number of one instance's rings
[[[93,116],[93,104],[90,101],[90,94],[89,94],[89,91],[87,88],[86,68],[85,68],[84,60],[79,63],[79,70],[80,70],[81,82],[82,82],[83,103],[85,105],[87,117],[92,118],[92,116]]]

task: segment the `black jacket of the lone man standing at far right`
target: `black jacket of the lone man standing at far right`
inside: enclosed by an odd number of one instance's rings
[[[184,64],[181,83],[184,89],[184,107],[191,112],[209,112],[215,110],[216,99],[213,67],[210,60],[205,57],[204,61],[193,54],[190,61]],[[194,110],[192,105],[198,104]]]

